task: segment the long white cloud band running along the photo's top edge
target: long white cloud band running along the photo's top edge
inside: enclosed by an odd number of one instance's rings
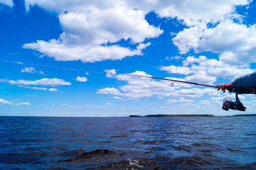
[[[158,1],[158,0],[102,0],[96,3],[93,0],[76,0],[70,3],[68,0],[43,1],[43,0],[25,0],[26,10],[29,6],[37,4],[49,11],[58,13],[73,12],[83,13],[93,8],[104,10],[113,9],[118,6],[124,6],[127,9],[139,9],[143,14],[154,11],[159,17],[175,18],[182,20],[187,26],[193,26],[199,23],[216,23],[224,20],[229,14],[236,11],[236,6],[246,6],[250,0],[207,0],[207,1]],[[234,17],[239,17],[236,15]]]

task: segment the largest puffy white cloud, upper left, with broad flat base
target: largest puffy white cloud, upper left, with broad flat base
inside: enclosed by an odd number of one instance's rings
[[[26,0],[27,7],[34,3],[49,10],[58,11],[59,8],[56,1],[52,1],[49,7],[41,1]],[[65,3],[67,2],[63,2],[62,6],[67,5]],[[108,2],[109,4],[102,2],[106,6],[93,5],[94,2],[87,3],[69,2],[69,5],[65,6],[67,9],[61,9],[58,18],[64,32],[58,40],[52,39],[48,42],[37,40],[36,43],[24,44],[23,48],[34,49],[56,61],[81,60],[93,63],[143,55],[142,49],[150,45],[150,43],[144,44],[144,40],[163,34],[160,28],[148,24],[141,10],[129,9],[111,1]],[[69,12],[64,13],[65,11]],[[136,49],[112,45],[121,39],[139,44]],[[110,45],[106,45],[107,43]]]

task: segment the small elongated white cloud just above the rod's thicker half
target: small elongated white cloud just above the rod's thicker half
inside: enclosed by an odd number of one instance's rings
[[[195,72],[194,70],[190,69],[189,67],[175,66],[175,65],[159,66],[158,69],[161,71],[166,71],[168,73],[176,73],[176,74],[183,74],[183,75],[189,75],[189,74]]]

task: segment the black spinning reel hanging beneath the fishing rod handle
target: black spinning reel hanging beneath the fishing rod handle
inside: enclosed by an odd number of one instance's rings
[[[230,97],[227,97],[230,98]],[[240,110],[240,111],[245,111],[246,107],[244,107],[244,105],[242,104],[242,102],[239,100],[238,98],[238,93],[236,93],[236,101],[230,101],[226,100],[226,98],[224,98],[223,100],[223,106],[222,109],[228,111],[229,109],[233,109],[233,110]]]

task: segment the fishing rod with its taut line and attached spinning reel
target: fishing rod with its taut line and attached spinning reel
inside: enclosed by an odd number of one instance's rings
[[[174,86],[175,82],[180,82],[180,83],[193,84],[193,85],[198,85],[198,86],[207,86],[207,87],[213,87],[213,88],[216,87],[216,86],[212,86],[212,85],[208,85],[208,84],[200,84],[200,83],[194,83],[194,82],[189,82],[189,81],[180,81],[180,80],[158,78],[158,77],[151,77],[151,76],[144,76],[144,75],[120,74],[120,73],[109,73],[109,72],[94,72],[94,71],[88,71],[88,70],[70,69],[70,68],[63,68],[63,67],[56,67],[56,66],[45,66],[45,65],[40,65],[40,64],[22,63],[22,62],[15,62],[15,61],[4,61],[4,60],[0,60],[0,61],[8,62],[8,63],[32,65],[32,66],[43,66],[43,67],[50,67],[50,68],[56,68],[56,69],[68,69],[68,70],[81,71],[81,72],[92,72],[92,73],[111,74],[111,75],[128,75],[130,77],[134,76],[134,77],[138,77],[138,78],[141,78],[141,77],[151,78],[151,81],[153,81],[154,79],[173,81],[173,83],[171,83],[171,86]],[[227,110],[227,111],[229,109],[245,111],[246,107],[244,107],[243,104],[241,103],[241,101],[239,100],[238,94],[255,94],[255,92],[252,92],[247,89],[233,89],[231,87],[226,87],[226,89],[228,91],[233,91],[236,93],[236,101],[231,101],[230,97],[227,97],[227,98],[230,98],[230,101],[227,101],[227,100],[225,101],[226,98],[224,98],[222,109]]]

